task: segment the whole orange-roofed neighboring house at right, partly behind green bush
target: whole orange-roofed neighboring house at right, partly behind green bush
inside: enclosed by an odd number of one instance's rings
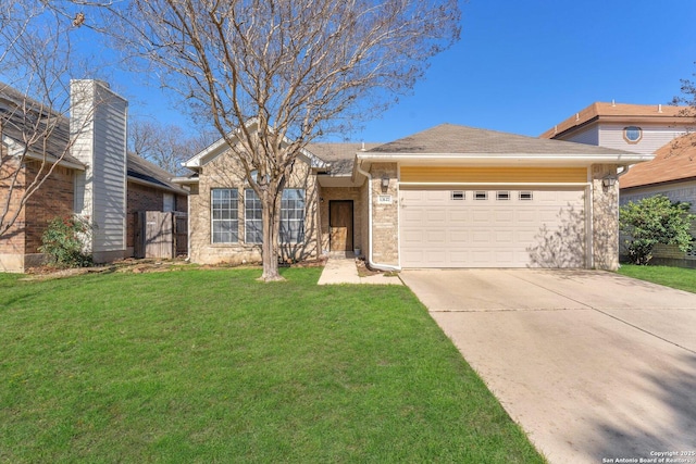
[[[688,106],[596,102],[540,137],[655,153],[655,160],[619,175],[620,203],[663,193],[672,201],[696,204],[693,114]],[[676,247],[658,246],[654,256],[655,264],[696,267],[696,255]]]

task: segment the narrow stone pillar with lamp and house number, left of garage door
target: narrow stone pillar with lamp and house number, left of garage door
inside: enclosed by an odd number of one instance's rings
[[[372,262],[399,265],[399,178],[396,163],[374,163],[372,174]],[[389,178],[386,191],[382,178]],[[381,195],[391,196],[390,204],[380,204]],[[366,198],[366,197],[365,197]]]

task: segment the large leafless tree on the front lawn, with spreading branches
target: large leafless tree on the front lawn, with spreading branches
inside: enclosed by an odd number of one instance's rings
[[[98,3],[98,1],[97,1]],[[302,148],[373,117],[459,36],[457,0],[133,0],[119,40],[212,120],[263,211],[277,280],[281,196]],[[251,173],[258,173],[253,176]]]

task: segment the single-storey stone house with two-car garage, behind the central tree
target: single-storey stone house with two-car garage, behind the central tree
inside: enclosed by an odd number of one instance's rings
[[[617,170],[651,155],[444,124],[309,145],[286,181],[282,259],[359,249],[376,268],[618,266]],[[260,260],[260,210],[221,140],[185,166],[189,253]]]

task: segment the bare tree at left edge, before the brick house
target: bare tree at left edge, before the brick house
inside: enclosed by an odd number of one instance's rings
[[[0,239],[69,155],[73,23],[41,1],[0,5]]]

